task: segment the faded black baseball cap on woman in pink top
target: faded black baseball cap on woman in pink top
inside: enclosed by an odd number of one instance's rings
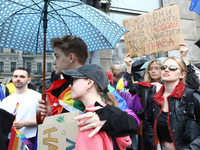
[[[108,77],[103,68],[96,64],[87,64],[76,70],[62,70],[65,79],[88,77],[101,88],[102,91],[108,86]]]

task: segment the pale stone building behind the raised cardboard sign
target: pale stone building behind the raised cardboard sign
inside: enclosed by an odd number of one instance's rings
[[[108,1],[105,3],[108,3]],[[171,4],[178,4],[184,40],[189,47],[187,58],[191,63],[199,63],[200,49],[194,43],[200,38],[200,16],[189,10],[190,3],[191,0],[112,0],[110,2],[109,9],[107,8],[107,11],[105,11],[106,9],[104,7],[104,11],[114,21],[122,25],[123,19],[152,12],[155,9],[166,7]],[[101,65],[106,70],[109,70],[111,65],[115,63],[123,63],[122,57],[125,54],[125,49],[126,48],[122,37],[121,40],[116,44],[114,50],[106,50],[105,52],[100,51]],[[108,58],[110,55],[112,55],[111,59]],[[180,57],[180,52],[179,50],[168,51],[167,53],[162,52],[158,54],[158,57],[160,56]]]

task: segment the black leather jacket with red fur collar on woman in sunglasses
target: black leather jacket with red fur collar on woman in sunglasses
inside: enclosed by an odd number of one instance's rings
[[[180,86],[184,88],[183,94],[181,93]],[[187,144],[186,141],[183,139],[183,133],[185,131],[185,124],[186,124],[186,102],[185,98],[188,95],[187,87],[184,87],[183,84],[178,84],[176,89],[173,91],[174,94],[168,97],[168,104],[169,104],[169,122],[168,126],[170,128],[170,134],[172,138],[172,142],[174,143],[177,150],[197,150],[200,149],[200,136],[197,137],[192,143]],[[162,88],[161,90],[162,91]],[[162,111],[162,106],[164,100],[161,98],[161,93],[158,92],[153,98],[152,110],[148,112],[148,115],[145,116],[146,122],[146,138],[148,139],[147,144],[151,149],[157,150],[157,118]],[[175,94],[176,93],[176,94]],[[195,91],[193,93],[194,96],[194,103],[195,103],[195,115],[197,118],[197,122],[200,122],[200,93]],[[187,97],[188,98],[188,97]]]

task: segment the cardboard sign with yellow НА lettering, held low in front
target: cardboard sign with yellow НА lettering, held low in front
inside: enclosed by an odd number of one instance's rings
[[[73,150],[78,135],[77,121],[79,112],[63,113],[46,117],[38,126],[38,146],[41,150]]]

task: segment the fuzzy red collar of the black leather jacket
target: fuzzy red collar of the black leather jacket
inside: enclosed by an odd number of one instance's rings
[[[174,91],[168,96],[168,97],[175,97],[177,99],[180,99],[182,97],[183,91],[184,91],[185,85],[183,82],[179,82]],[[158,105],[162,105],[164,103],[163,93],[165,91],[164,85],[160,88],[160,90],[153,96],[153,99]]]

